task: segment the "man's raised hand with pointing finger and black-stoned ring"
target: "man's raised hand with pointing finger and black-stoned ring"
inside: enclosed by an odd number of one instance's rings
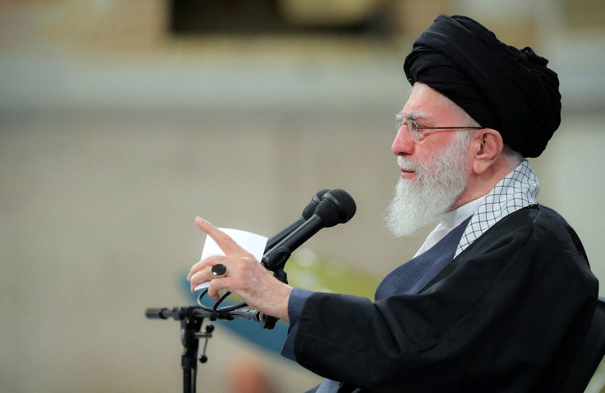
[[[210,281],[208,295],[215,301],[220,298],[218,291],[226,289],[240,295],[250,307],[288,322],[288,300],[292,287],[273,277],[252,254],[208,221],[197,217],[195,223],[217,242],[225,256],[212,255],[191,267],[187,276],[191,282],[191,292],[194,292],[197,284]],[[227,275],[221,278],[215,278],[210,271],[218,263],[227,266]]]

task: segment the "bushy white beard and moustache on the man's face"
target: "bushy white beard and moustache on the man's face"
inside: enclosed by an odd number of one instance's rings
[[[441,152],[426,162],[398,156],[399,167],[416,171],[415,179],[400,178],[395,196],[387,207],[387,228],[395,237],[411,236],[418,229],[439,219],[466,187],[465,157],[468,143],[454,138]]]

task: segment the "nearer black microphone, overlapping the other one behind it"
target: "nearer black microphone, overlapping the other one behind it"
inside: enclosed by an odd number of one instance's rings
[[[292,251],[319,232],[319,229],[348,222],[355,216],[356,210],[355,200],[347,191],[339,188],[327,191],[321,197],[313,215],[266,252],[261,258],[261,263],[272,272],[283,269]]]

